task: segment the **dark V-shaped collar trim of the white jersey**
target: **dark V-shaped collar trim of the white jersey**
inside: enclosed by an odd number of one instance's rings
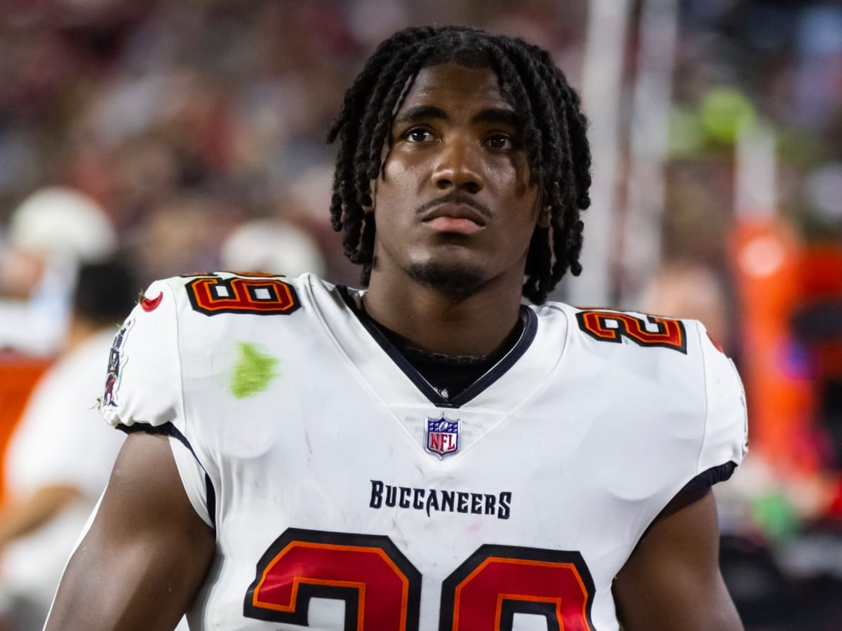
[[[524,318],[524,330],[520,334],[520,339],[514,343],[514,347],[506,353],[503,358],[500,358],[498,363],[495,363],[487,373],[483,374],[479,379],[474,381],[465,390],[462,390],[458,395],[452,396],[449,399],[445,398],[436,390],[424,376],[418,372],[417,369],[403,356],[397,347],[389,340],[368,317],[366,317],[357,305],[354,297],[350,294],[349,289],[344,285],[337,285],[339,295],[348,305],[348,308],[354,313],[360,324],[365,327],[369,335],[374,338],[375,342],[386,352],[389,358],[392,359],[403,374],[406,374],[410,381],[413,382],[418,391],[421,392],[430,403],[436,407],[459,408],[464,406],[470,400],[474,399],[482,391],[487,390],[488,387],[497,381],[500,377],[506,374],[515,362],[520,359],[530,344],[535,339],[538,331],[538,317],[535,312],[525,305],[521,305],[520,313]]]

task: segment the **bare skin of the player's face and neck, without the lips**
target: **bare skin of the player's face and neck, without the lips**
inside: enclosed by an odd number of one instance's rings
[[[507,114],[508,113],[508,114]],[[449,355],[493,352],[514,327],[530,237],[548,225],[541,190],[530,186],[526,153],[497,77],[453,63],[418,73],[392,125],[375,190],[375,262],[365,309],[419,347]],[[445,195],[474,204],[472,234],[427,221]],[[433,286],[418,268],[467,278]]]

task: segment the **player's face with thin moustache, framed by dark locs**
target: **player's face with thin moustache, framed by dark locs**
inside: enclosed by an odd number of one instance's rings
[[[495,73],[455,63],[422,69],[391,138],[372,183],[373,274],[461,298],[498,278],[520,287],[532,232],[549,217]]]

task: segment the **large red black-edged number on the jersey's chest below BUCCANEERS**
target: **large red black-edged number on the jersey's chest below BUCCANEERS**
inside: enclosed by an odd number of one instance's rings
[[[482,545],[443,582],[440,631],[509,631],[515,613],[591,631],[594,586],[578,552]],[[345,603],[345,631],[417,631],[421,574],[383,536],[290,528],[258,562],[243,615],[307,626],[312,598]]]

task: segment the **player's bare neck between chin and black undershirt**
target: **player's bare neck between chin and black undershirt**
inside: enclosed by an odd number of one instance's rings
[[[382,326],[429,353],[480,357],[493,353],[518,322],[520,285],[481,289],[463,299],[372,273],[365,310]]]

